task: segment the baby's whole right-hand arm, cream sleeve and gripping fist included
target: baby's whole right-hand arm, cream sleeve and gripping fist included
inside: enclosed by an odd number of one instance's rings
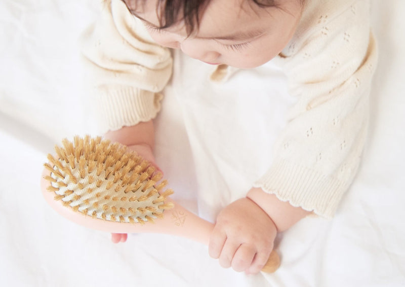
[[[297,102],[275,142],[272,165],[254,184],[259,188],[218,216],[210,254],[222,266],[258,272],[276,230],[285,231],[309,214],[304,209],[333,217],[356,174],[367,137],[369,88],[377,60],[369,11],[368,1],[306,5],[297,35],[275,59]],[[242,247],[249,252],[239,252]]]

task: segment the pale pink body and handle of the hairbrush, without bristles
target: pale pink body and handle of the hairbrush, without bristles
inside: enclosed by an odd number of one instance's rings
[[[165,210],[164,218],[158,219],[154,223],[131,224],[104,221],[93,219],[90,216],[84,216],[80,212],[74,211],[71,208],[65,207],[61,201],[54,199],[55,194],[47,190],[49,182],[45,180],[45,176],[50,172],[44,170],[41,178],[41,190],[45,200],[53,209],[55,209],[64,218],[84,227],[99,231],[111,233],[163,233],[175,236],[189,238],[191,240],[201,242],[208,245],[210,235],[214,229],[214,224],[199,218],[194,213],[190,212],[180,204],[167,199],[168,202],[174,203],[174,208]],[[273,250],[270,257],[262,269],[263,272],[271,273],[277,270],[280,264],[278,254]]]

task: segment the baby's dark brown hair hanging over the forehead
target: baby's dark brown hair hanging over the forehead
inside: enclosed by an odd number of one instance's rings
[[[123,0],[124,1],[124,0]],[[147,0],[131,0],[130,10],[135,10],[138,2]],[[186,31],[191,34],[199,26],[199,17],[211,0],[158,0],[156,12],[159,17],[160,29],[165,29],[179,20],[184,21]],[[275,0],[250,0],[259,7],[276,6]],[[128,3],[126,3],[128,6]],[[182,15],[180,15],[180,12]]]

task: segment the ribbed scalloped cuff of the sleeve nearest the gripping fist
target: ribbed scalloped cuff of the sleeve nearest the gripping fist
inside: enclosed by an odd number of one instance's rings
[[[332,218],[347,183],[288,161],[276,162],[255,184],[281,201]]]

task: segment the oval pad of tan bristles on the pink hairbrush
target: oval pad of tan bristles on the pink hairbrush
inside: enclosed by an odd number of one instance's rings
[[[47,190],[67,208],[95,219],[120,223],[146,223],[163,217],[173,194],[162,192],[161,173],[136,152],[101,137],[64,139],[48,155],[44,166]]]

